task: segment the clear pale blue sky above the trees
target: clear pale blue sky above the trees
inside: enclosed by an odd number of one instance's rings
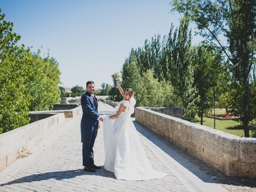
[[[50,50],[59,62],[62,86],[96,88],[112,84],[131,48],[143,46],[154,34],[167,35],[179,14],[170,13],[170,0],[1,0],[5,20],[14,22],[18,44]],[[192,26],[194,31],[194,26]],[[194,36],[193,44],[202,40]]]

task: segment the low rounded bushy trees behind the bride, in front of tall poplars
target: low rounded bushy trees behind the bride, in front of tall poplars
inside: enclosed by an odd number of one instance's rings
[[[123,65],[123,87],[134,90],[136,106],[170,107],[174,106],[173,87],[170,83],[159,82],[154,77],[154,70],[149,69],[140,75],[135,57],[126,59]]]

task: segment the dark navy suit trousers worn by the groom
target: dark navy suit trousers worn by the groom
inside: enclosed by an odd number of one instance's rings
[[[94,164],[93,146],[98,132],[98,124],[94,127],[92,134],[86,141],[83,142],[82,155],[83,155],[83,166],[90,166]]]

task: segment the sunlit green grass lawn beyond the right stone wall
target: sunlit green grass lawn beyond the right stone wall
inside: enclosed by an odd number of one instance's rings
[[[224,114],[225,109],[215,109],[215,114]],[[196,123],[200,124],[200,118],[196,116]],[[203,117],[203,125],[214,128],[214,119]],[[227,132],[233,135],[237,135],[240,137],[244,136],[244,130],[240,123],[233,121],[233,120],[215,120],[215,128],[217,130]],[[249,130],[250,137],[252,137],[252,132]]]

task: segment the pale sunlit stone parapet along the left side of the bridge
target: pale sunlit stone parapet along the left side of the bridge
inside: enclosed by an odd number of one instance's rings
[[[16,158],[26,156],[33,146],[62,126],[66,122],[65,118],[82,114],[82,107],[79,105],[55,105],[60,110],[32,111],[29,114],[30,124],[0,134],[0,171],[12,164]]]

